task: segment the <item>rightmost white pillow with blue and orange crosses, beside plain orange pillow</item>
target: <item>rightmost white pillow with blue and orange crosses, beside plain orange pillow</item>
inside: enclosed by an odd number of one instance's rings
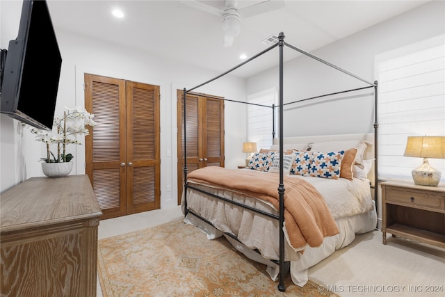
[[[340,152],[313,152],[309,176],[339,179],[341,160],[344,154],[343,150]]]

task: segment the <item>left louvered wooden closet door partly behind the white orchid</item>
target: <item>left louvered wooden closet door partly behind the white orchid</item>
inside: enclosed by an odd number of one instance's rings
[[[127,214],[125,83],[122,79],[85,74],[86,109],[97,125],[86,138],[86,173],[104,218]]]

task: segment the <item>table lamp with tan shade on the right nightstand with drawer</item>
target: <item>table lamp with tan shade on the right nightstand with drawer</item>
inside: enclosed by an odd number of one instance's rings
[[[408,136],[403,156],[423,158],[423,164],[412,170],[414,184],[437,186],[441,172],[430,166],[428,158],[445,158],[445,136]]]

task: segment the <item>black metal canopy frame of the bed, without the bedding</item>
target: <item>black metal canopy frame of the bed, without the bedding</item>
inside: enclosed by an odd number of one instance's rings
[[[365,86],[365,87],[362,87],[362,88],[354,88],[354,89],[351,89],[351,90],[343,90],[343,91],[336,92],[336,93],[319,95],[319,96],[316,96],[316,97],[310,97],[310,98],[306,98],[306,99],[300,99],[300,100],[297,100],[297,101],[288,102],[288,103],[284,104],[284,102],[283,102],[283,64],[284,64],[284,61],[283,61],[283,47],[284,47],[284,45],[286,45],[287,47],[290,47],[291,49],[299,51],[301,54],[304,54],[305,56],[309,56],[310,58],[313,58],[316,61],[319,61],[319,62],[321,62],[321,63],[323,63],[325,65],[328,65],[328,66],[330,66],[330,67],[332,67],[332,68],[334,68],[336,70],[339,70],[340,72],[348,74],[350,77],[354,77],[355,79],[358,79],[359,81],[363,81],[364,83],[368,84],[369,86]],[[279,47],[279,49],[280,49],[280,64],[279,64],[279,76],[280,76],[280,82],[279,82],[279,98],[280,98],[280,100],[279,100],[279,104],[280,104],[279,105],[279,107],[280,107],[280,118],[279,118],[279,125],[280,125],[280,131],[279,131],[280,132],[280,136],[279,136],[279,139],[280,139],[280,152],[279,152],[280,153],[280,173],[279,173],[279,176],[280,176],[280,180],[279,180],[279,184],[278,184],[278,188],[277,188],[278,194],[279,194],[279,198],[280,198],[280,202],[279,202],[280,209],[279,209],[279,215],[278,216],[276,216],[274,214],[268,214],[265,211],[261,211],[259,209],[254,209],[253,207],[248,207],[245,204],[241,204],[241,203],[238,203],[236,201],[220,197],[220,196],[215,195],[213,193],[208,193],[207,191],[203,191],[202,189],[197,188],[195,186],[188,185],[187,184],[187,172],[188,172],[188,169],[187,169],[187,158],[186,158],[186,156],[187,156],[187,145],[186,145],[186,143],[187,143],[187,141],[186,141],[186,139],[187,139],[186,138],[186,95],[188,93],[193,94],[193,93],[191,93],[193,90],[195,90],[197,88],[200,88],[200,87],[206,85],[207,83],[215,81],[216,79],[219,79],[220,77],[223,77],[226,74],[229,74],[230,72],[238,69],[238,67],[241,67],[241,66],[245,65],[246,63],[249,63],[250,61],[253,61],[255,58],[265,54],[266,52],[270,51],[271,49],[274,49],[275,47]],[[195,86],[195,87],[193,87],[193,88],[191,88],[189,90],[186,90],[186,88],[184,88],[184,90],[183,90],[183,106],[184,106],[184,111],[183,111],[184,112],[184,115],[183,115],[183,118],[184,118],[184,208],[185,208],[184,216],[187,216],[188,213],[191,213],[191,214],[193,214],[193,216],[196,216],[197,218],[200,218],[200,220],[203,220],[205,223],[208,223],[209,225],[213,226],[213,224],[211,222],[209,222],[209,220],[206,220],[205,218],[202,218],[202,216],[200,216],[198,214],[195,214],[193,211],[190,211],[190,210],[187,209],[187,188],[192,188],[195,191],[199,191],[199,192],[204,193],[206,195],[210,195],[213,198],[224,200],[225,202],[229,202],[231,204],[236,204],[239,207],[243,207],[245,209],[249,209],[251,211],[255,211],[255,212],[259,213],[259,214],[263,214],[264,216],[268,216],[270,218],[274,218],[274,219],[279,220],[279,224],[280,224],[280,227],[279,227],[279,229],[280,229],[280,259],[278,261],[274,261],[274,262],[277,262],[277,264],[280,266],[280,275],[279,275],[280,276],[280,280],[279,280],[279,284],[278,284],[277,288],[280,291],[285,291],[286,287],[284,285],[284,275],[285,275],[286,268],[289,268],[289,262],[285,262],[284,261],[284,231],[283,231],[283,226],[284,226],[284,191],[285,191],[285,188],[284,188],[284,174],[283,174],[283,146],[284,146],[284,144],[283,144],[283,107],[286,106],[286,105],[289,105],[289,104],[294,104],[294,103],[297,103],[297,102],[304,102],[304,101],[307,101],[307,100],[316,99],[316,98],[320,98],[320,97],[326,97],[326,96],[330,96],[330,95],[337,95],[337,94],[341,94],[341,93],[348,93],[348,92],[353,92],[353,91],[357,91],[357,90],[364,90],[366,88],[374,88],[374,124],[373,124],[373,127],[374,127],[374,156],[375,156],[375,163],[374,163],[374,186],[371,185],[371,188],[374,188],[374,201],[375,201],[375,203],[377,203],[377,189],[378,189],[378,163],[377,163],[377,152],[378,152],[378,150],[377,150],[377,147],[378,147],[378,143],[377,143],[377,140],[378,140],[378,138],[377,138],[377,136],[378,136],[378,111],[377,111],[377,107],[378,106],[377,106],[377,102],[378,102],[378,94],[377,94],[377,84],[378,84],[377,81],[374,81],[373,83],[371,83],[370,81],[366,81],[365,79],[357,77],[355,74],[352,74],[352,73],[350,73],[350,72],[348,72],[346,70],[341,69],[340,67],[332,65],[331,63],[328,63],[328,62],[322,60],[321,58],[318,58],[318,57],[316,57],[316,56],[314,56],[312,54],[309,54],[308,52],[303,51],[302,49],[298,49],[297,47],[293,47],[292,45],[289,45],[288,43],[284,42],[284,33],[281,32],[280,35],[278,36],[278,42],[275,45],[272,45],[272,46],[268,47],[264,51],[261,51],[259,54],[256,54],[256,55],[252,56],[251,58],[249,58],[248,60],[244,61],[243,63],[240,63],[240,64],[236,65],[235,67],[231,68],[230,70],[227,70],[226,72],[223,72],[222,74],[218,75],[217,77],[214,77],[213,79],[209,79],[208,81],[205,81],[204,83],[201,83],[200,85]],[[214,98],[221,99],[221,100],[228,101],[228,102],[238,102],[238,103],[242,103],[242,104],[252,104],[252,105],[272,108],[272,110],[273,110],[273,131],[272,131],[272,134],[273,134],[273,138],[275,138],[275,108],[277,106],[275,106],[275,105],[266,106],[266,105],[254,104],[254,103],[250,103],[250,102],[241,102],[241,101],[230,100],[230,99],[225,99],[225,98],[221,98],[221,97],[214,97]],[[229,234],[229,233],[226,233],[226,234],[228,236],[232,237],[233,239],[236,239],[237,241],[239,241],[238,238],[236,238],[236,236],[234,236],[233,234]]]

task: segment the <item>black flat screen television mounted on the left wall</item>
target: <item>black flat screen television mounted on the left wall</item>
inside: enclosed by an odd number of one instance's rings
[[[1,72],[1,113],[51,130],[61,66],[47,1],[24,0],[19,33],[9,42]]]

